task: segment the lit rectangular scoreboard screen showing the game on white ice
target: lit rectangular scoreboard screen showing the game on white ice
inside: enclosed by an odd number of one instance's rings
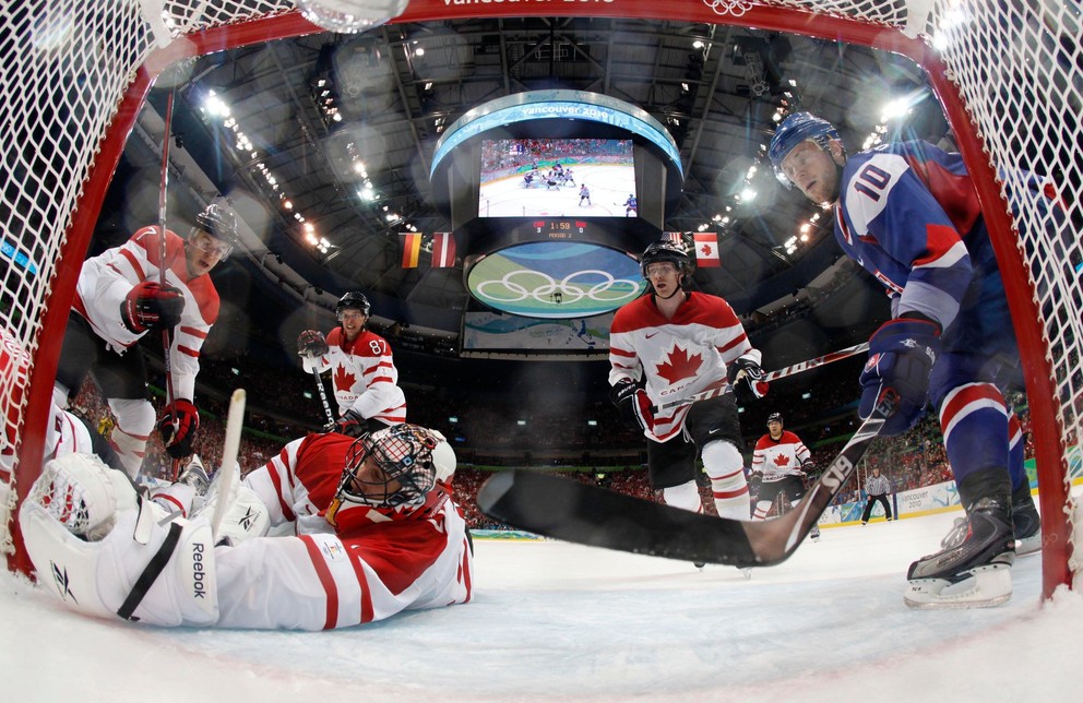
[[[631,140],[483,140],[478,217],[635,217]]]

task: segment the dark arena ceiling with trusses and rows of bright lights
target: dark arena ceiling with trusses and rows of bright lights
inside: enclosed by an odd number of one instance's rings
[[[665,229],[718,233],[722,265],[700,269],[695,282],[742,314],[792,305],[801,290],[847,274],[831,214],[783,189],[763,158],[776,116],[816,111],[855,150],[884,123],[884,106],[905,98],[911,112],[886,123],[889,139],[939,141],[947,132],[923,71],[865,47],[626,19],[389,24],[223,51],[164,75],[129,141],[96,246],[157,222],[170,82],[169,222],[224,194],[248,235],[248,251],[221,272],[224,300],[259,302],[282,320],[298,300],[328,309],[359,289],[379,318],[445,335],[452,347],[471,306],[462,265],[402,269],[400,233],[451,228],[430,199],[428,169],[442,131],[479,104],[540,88],[590,91],[664,124],[686,175]],[[847,285],[852,297],[872,289]],[[231,290],[239,287],[247,293]],[[822,314],[830,325],[832,311]],[[264,324],[273,323],[249,326]]]

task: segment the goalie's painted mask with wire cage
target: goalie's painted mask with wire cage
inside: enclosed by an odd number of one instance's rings
[[[335,501],[372,508],[423,505],[437,481],[448,481],[454,473],[455,452],[443,434],[404,422],[350,444]]]

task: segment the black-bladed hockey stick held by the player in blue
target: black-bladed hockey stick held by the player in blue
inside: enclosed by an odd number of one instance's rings
[[[525,469],[489,478],[477,507],[513,527],[592,547],[742,568],[774,565],[794,553],[842,492],[896,401],[893,392],[884,394],[806,498],[775,520],[714,517]]]

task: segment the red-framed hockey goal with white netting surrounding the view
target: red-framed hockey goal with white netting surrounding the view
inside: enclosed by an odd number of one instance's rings
[[[1071,584],[1071,484],[1083,409],[1083,33],[1061,0],[413,0],[398,22],[468,16],[658,19],[795,32],[911,57],[937,92],[986,211],[1024,365],[1045,526],[1045,592]],[[316,31],[289,0],[23,0],[0,33],[0,540],[38,475],[60,341],[106,187],[168,64]],[[997,175],[1047,177],[1064,216],[1014,203]],[[1020,234],[1022,233],[1022,234]]]

